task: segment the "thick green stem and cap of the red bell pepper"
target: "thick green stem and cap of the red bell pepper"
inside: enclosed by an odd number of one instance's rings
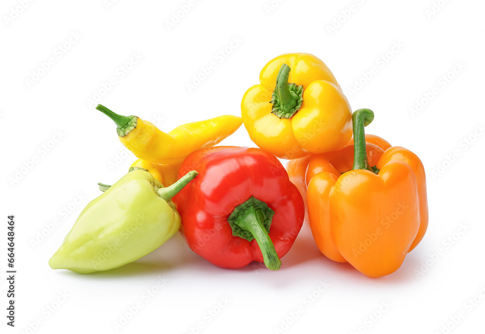
[[[248,241],[256,239],[263,254],[265,266],[271,270],[281,268],[281,260],[275,245],[268,235],[273,211],[268,205],[251,196],[247,201],[234,208],[227,222],[232,228],[232,235]]]

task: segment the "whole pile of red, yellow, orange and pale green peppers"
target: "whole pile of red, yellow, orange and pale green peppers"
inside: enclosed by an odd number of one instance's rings
[[[242,118],[219,116],[169,133],[98,105],[139,159],[112,186],[99,184],[103,194],[81,212],[50,267],[117,268],[179,231],[216,266],[259,261],[278,270],[307,210],[326,257],[369,277],[397,270],[428,224],[420,159],[366,135],[373,112],[352,113],[313,55],[278,56],[259,81],[242,97]],[[259,148],[214,146],[242,123]],[[290,159],[286,169],[277,158]]]

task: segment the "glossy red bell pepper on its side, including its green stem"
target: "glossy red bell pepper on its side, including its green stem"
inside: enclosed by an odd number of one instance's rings
[[[220,146],[189,155],[179,175],[191,168],[199,175],[174,197],[182,218],[180,233],[189,247],[223,268],[259,261],[279,269],[279,258],[290,250],[300,231],[305,208],[278,159],[259,148]],[[262,204],[253,203],[253,198]],[[254,212],[238,211],[245,206],[254,207]],[[245,229],[238,216],[250,213],[253,218],[248,221],[259,228],[249,238],[236,236]]]

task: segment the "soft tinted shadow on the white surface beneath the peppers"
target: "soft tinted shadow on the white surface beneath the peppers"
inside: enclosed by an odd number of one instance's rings
[[[174,270],[188,270],[189,272],[200,270],[202,275],[216,275],[223,279],[231,279],[233,275],[249,275],[258,281],[275,281],[281,285],[289,281],[305,281],[308,276],[316,274],[322,279],[329,278],[332,281],[344,280],[355,284],[376,285],[402,285],[403,283],[416,283],[414,270],[420,267],[420,254],[411,252],[406,255],[404,263],[395,272],[379,278],[370,278],[356,270],[349,263],[335,262],[324,256],[318,249],[308,224],[304,224],[290,251],[282,258],[281,269],[272,271],[264,266],[264,263],[251,262],[240,269],[225,269],[212,265],[210,262],[195,254],[177,233],[173,238],[165,242],[161,247],[142,257],[141,259],[112,270],[98,271],[91,274],[79,274],[70,270],[58,270],[59,274],[91,278],[96,280],[113,279],[114,277],[137,277],[149,273],[165,274]],[[304,266],[303,270],[312,271],[311,274],[301,275],[296,269]],[[296,270],[295,270],[296,269]],[[282,281],[283,273],[285,280]],[[258,278],[256,278],[258,277]],[[279,277],[279,278],[277,278]],[[273,282],[273,283],[275,283]],[[269,283],[268,283],[269,284]]]

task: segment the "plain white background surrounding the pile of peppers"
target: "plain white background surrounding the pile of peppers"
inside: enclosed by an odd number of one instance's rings
[[[16,216],[18,270],[15,329],[6,325],[1,280],[1,333],[116,333],[113,323],[125,316],[118,333],[483,333],[483,1],[195,0],[170,29],[188,0],[23,2],[26,8],[15,0],[0,6],[0,214],[3,222]],[[233,39],[240,44],[231,47]],[[375,112],[366,131],[422,159],[429,229],[397,272],[370,279],[330,261],[307,224],[276,272],[214,267],[178,234],[110,272],[49,268],[82,208],[99,195],[97,182],[115,182],[135,159],[89,99],[101,93],[94,103],[165,131],[240,115],[262,66],[286,52],[320,57],[353,109]],[[141,60],[127,65],[133,53]],[[189,92],[210,62],[216,69]],[[123,78],[121,66],[131,67]],[[116,84],[102,91],[112,78]],[[413,114],[418,101],[425,106]],[[223,144],[254,146],[244,127]],[[43,230],[47,237],[33,244]],[[0,270],[7,269],[6,233],[2,223]],[[148,298],[150,289],[156,293]]]

